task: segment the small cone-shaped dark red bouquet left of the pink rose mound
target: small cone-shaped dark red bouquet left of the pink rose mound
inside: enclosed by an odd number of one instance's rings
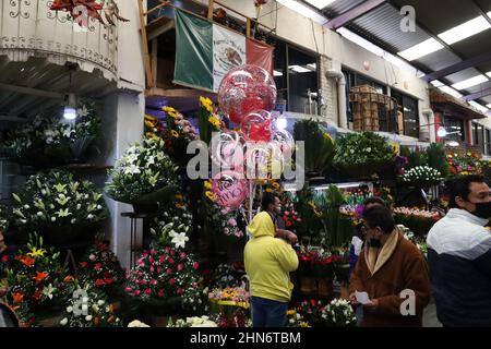
[[[76,272],[81,285],[89,285],[106,292],[118,287],[122,288],[125,280],[125,272],[109,249],[109,242],[99,239],[96,239],[95,244],[79,262]]]

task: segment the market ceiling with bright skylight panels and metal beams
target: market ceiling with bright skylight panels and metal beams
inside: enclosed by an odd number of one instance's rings
[[[325,16],[325,26],[348,29],[423,72],[422,79],[442,91],[482,112],[491,109],[491,0],[299,1]],[[415,32],[400,29],[405,5],[415,9]]]

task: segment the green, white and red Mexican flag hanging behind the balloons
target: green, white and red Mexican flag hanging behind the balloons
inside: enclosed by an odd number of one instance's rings
[[[202,17],[176,10],[173,83],[217,92],[227,72],[255,64],[273,74],[274,48]]]

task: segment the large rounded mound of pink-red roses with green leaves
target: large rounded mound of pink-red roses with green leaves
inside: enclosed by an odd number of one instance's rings
[[[177,301],[181,305],[187,289],[203,292],[202,288],[200,290],[199,267],[194,256],[181,248],[154,245],[143,252],[130,272],[124,290],[129,296],[145,302]],[[182,305],[185,306],[185,303]]]

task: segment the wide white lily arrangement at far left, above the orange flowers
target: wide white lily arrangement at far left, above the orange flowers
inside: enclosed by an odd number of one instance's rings
[[[14,222],[25,229],[41,231],[52,244],[53,240],[67,240],[87,232],[81,229],[108,216],[103,194],[95,184],[76,180],[67,171],[51,170],[32,176],[12,196]]]

